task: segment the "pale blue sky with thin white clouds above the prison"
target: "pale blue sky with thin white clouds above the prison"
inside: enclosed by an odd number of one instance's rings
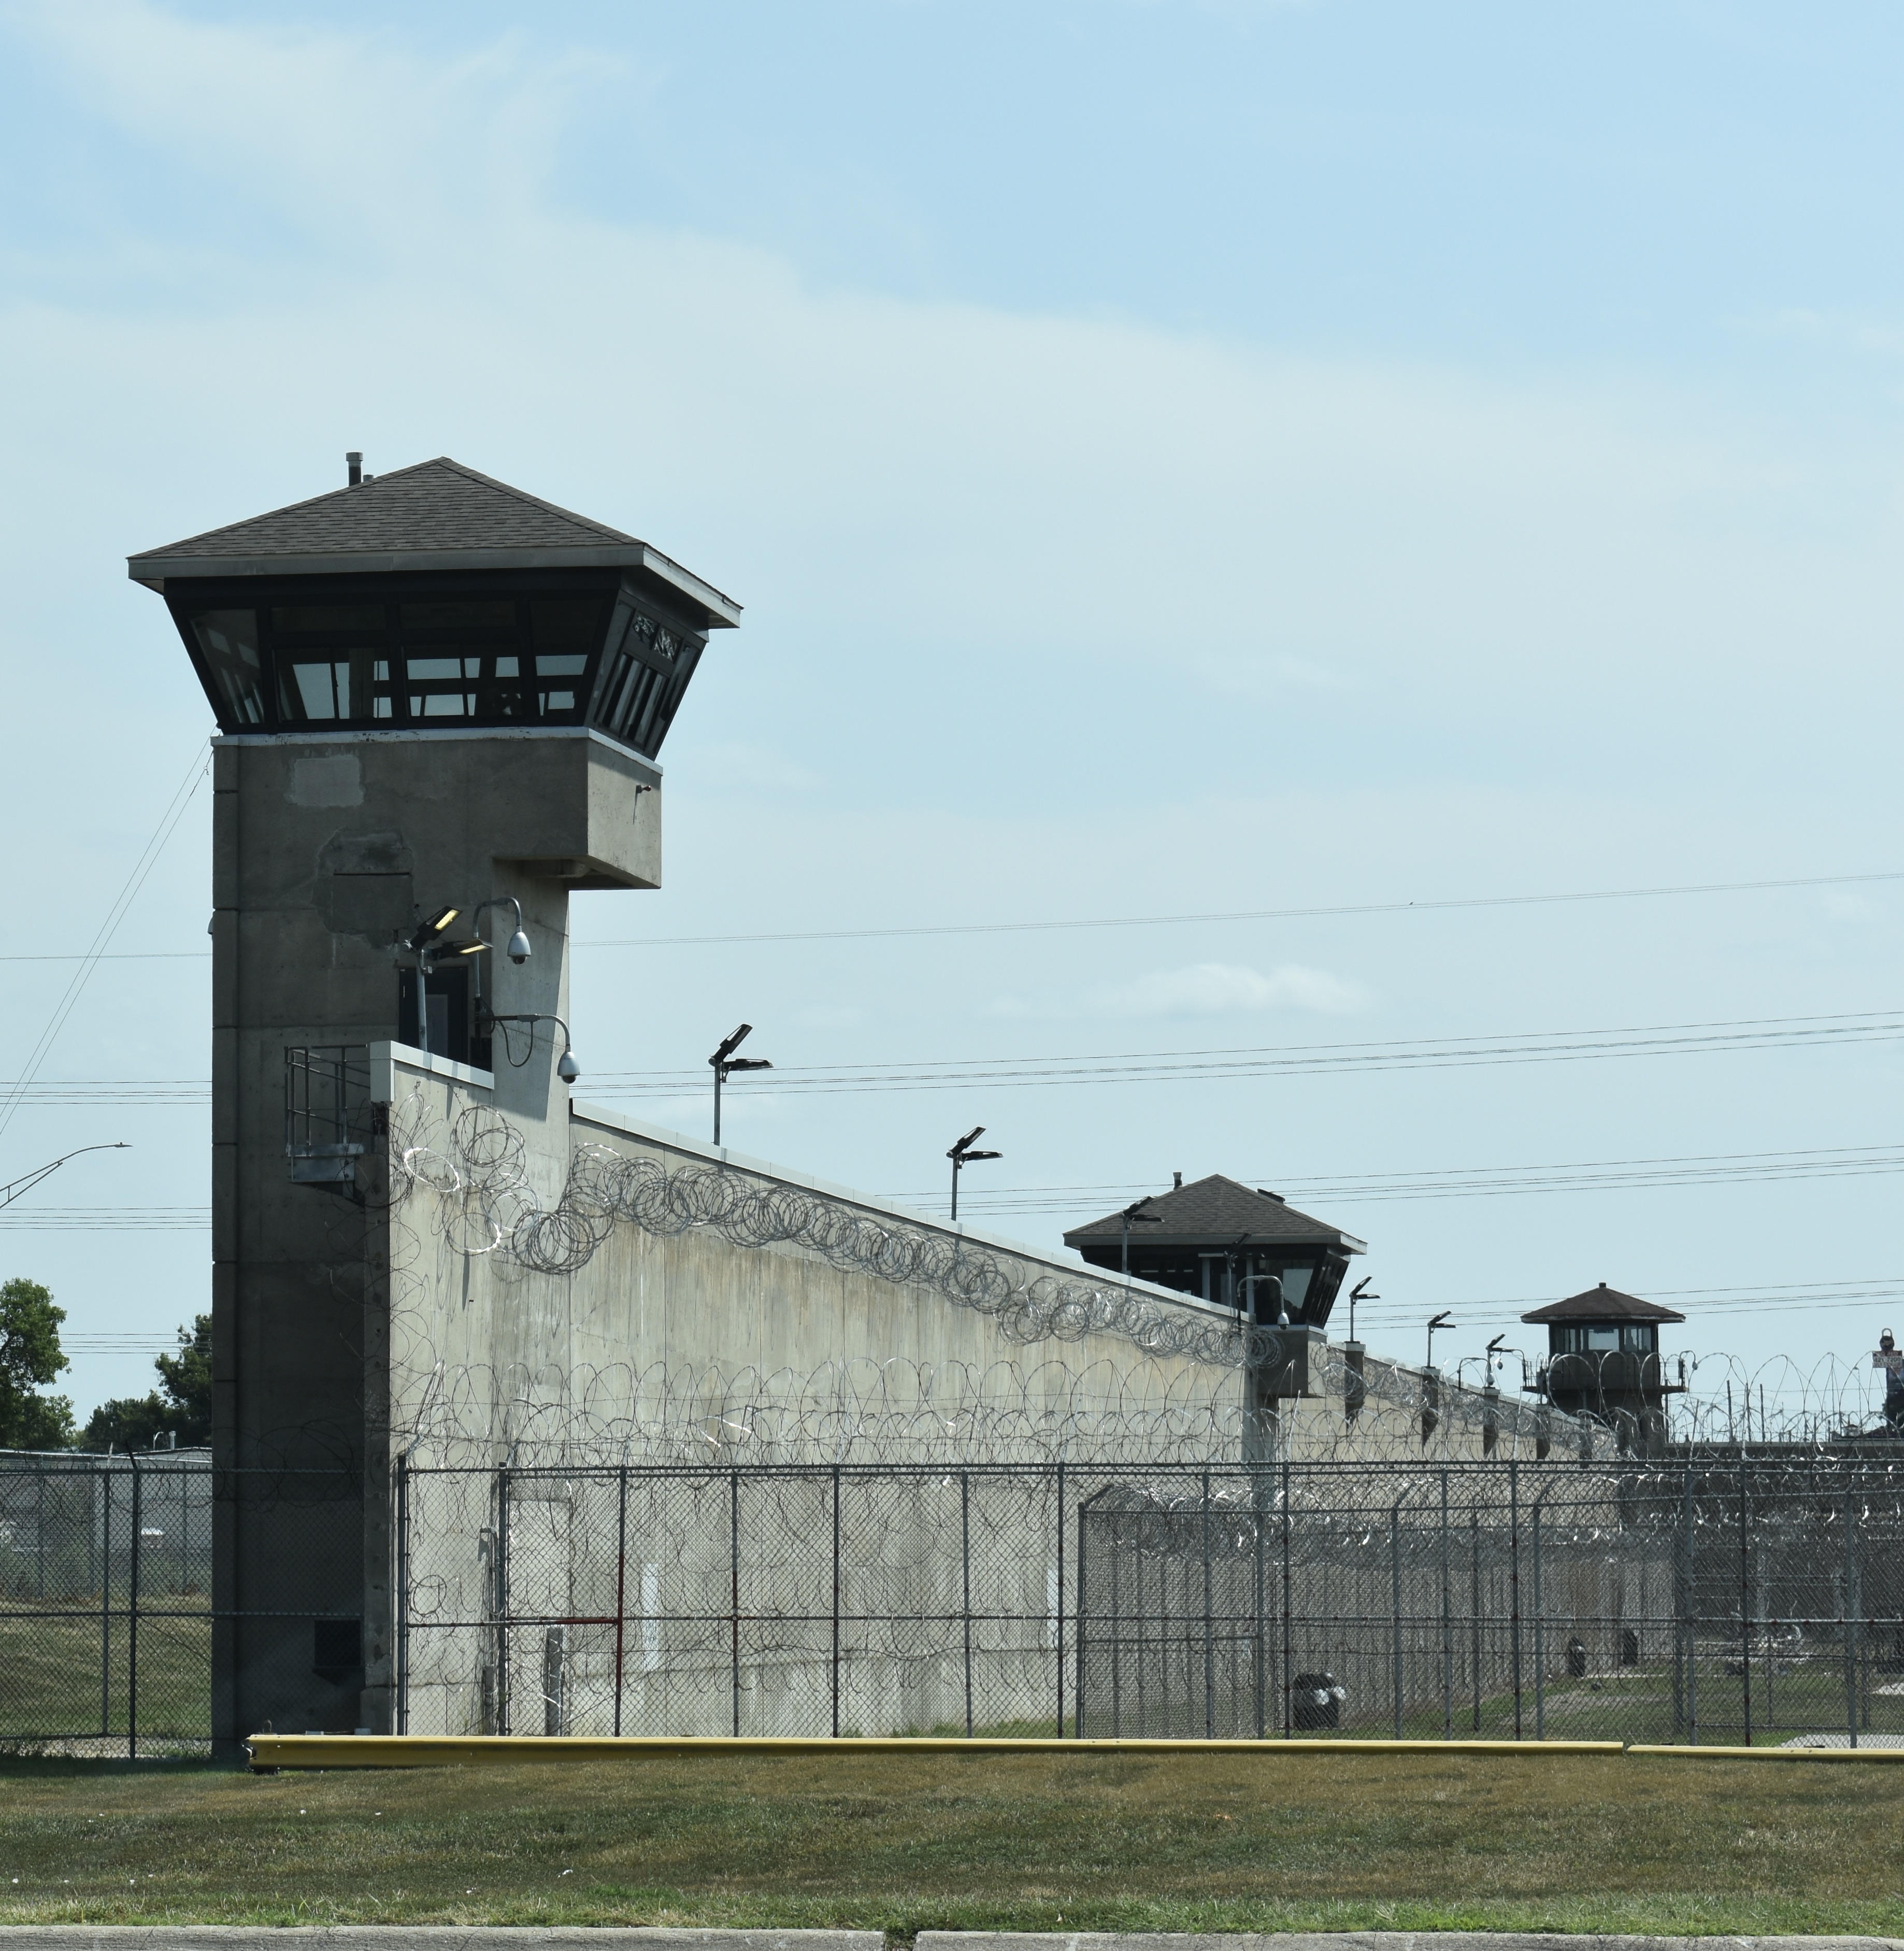
[[[1894,10],[62,0],[0,37],[0,952],[86,946],[209,730],[123,556],[347,447],[747,605],[665,751],[669,884],[583,897],[583,944],[1904,870]],[[199,950],[207,884],[201,796],[115,946]],[[1898,886],[583,948],[577,1046],[607,1089],[741,1016],[911,1065],[1883,1011]],[[68,974],[0,962],[0,1075]],[[205,1022],[203,962],[103,964],[43,1077],[201,1079]],[[1172,1169],[1886,1147],[1894,1096],[1894,1044],[1787,1040],[730,1116],[921,1200],[985,1122],[1001,1192],[1077,1188],[995,1217],[1055,1243]],[[135,1151],[35,1194],[72,1223],[0,1221],[125,1338],[82,1411],[207,1286],[197,1106],[27,1106],[0,1176],[96,1137]],[[1313,1204],[1407,1356],[1606,1278],[1808,1370],[1904,1301],[1888,1171]]]

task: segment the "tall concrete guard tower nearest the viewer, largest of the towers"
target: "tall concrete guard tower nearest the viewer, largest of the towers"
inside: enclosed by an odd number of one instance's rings
[[[655,755],[708,632],[739,622],[646,542],[456,460],[371,478],[351,455],[347,472],[336,494],[129,562],[166,599],[218,720],[213,1732],[226,1754],[267,1727],[388,1729],[392,1649],[375,1621],[390,1617],[390,1539],[365,1522],[392,1467],[386,1418],[367,1416],[386,1315],[353,1182],[365,1093],[328,1077],[326,1054],[398,1042],[488,1071],[494,1040],[497,1108],[566,1126],[570,890],[659,886]],[[351,1100],[330,1145],[314,1116],[287,1143],[300,1065],[306,1114],[312,1075],[318,1110],[326,1083]]]

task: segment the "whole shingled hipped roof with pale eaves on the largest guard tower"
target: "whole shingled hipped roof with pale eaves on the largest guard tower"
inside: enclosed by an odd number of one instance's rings
[[[687,597],[706,626],[739,622],[739,603],[638,537],[449,458],[127,558],[133,581],[152,589],[170,577],[552,568],[644,570]]]

